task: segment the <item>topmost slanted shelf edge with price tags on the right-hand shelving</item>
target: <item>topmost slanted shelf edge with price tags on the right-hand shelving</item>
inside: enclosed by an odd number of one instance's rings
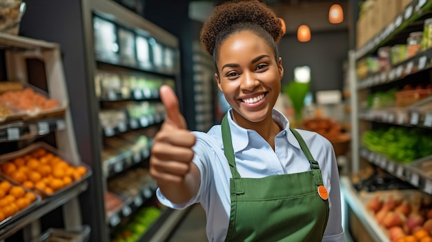
[[[361,59],[375,52],[380,46],[384,46],[386,42],[393,39],[395,35],[402,32],[409,24],[419,19],[426,10],[431,8],[431,0],[413,0],[384,31],[376,34],[375,37],[355,52],[355,59]]]

